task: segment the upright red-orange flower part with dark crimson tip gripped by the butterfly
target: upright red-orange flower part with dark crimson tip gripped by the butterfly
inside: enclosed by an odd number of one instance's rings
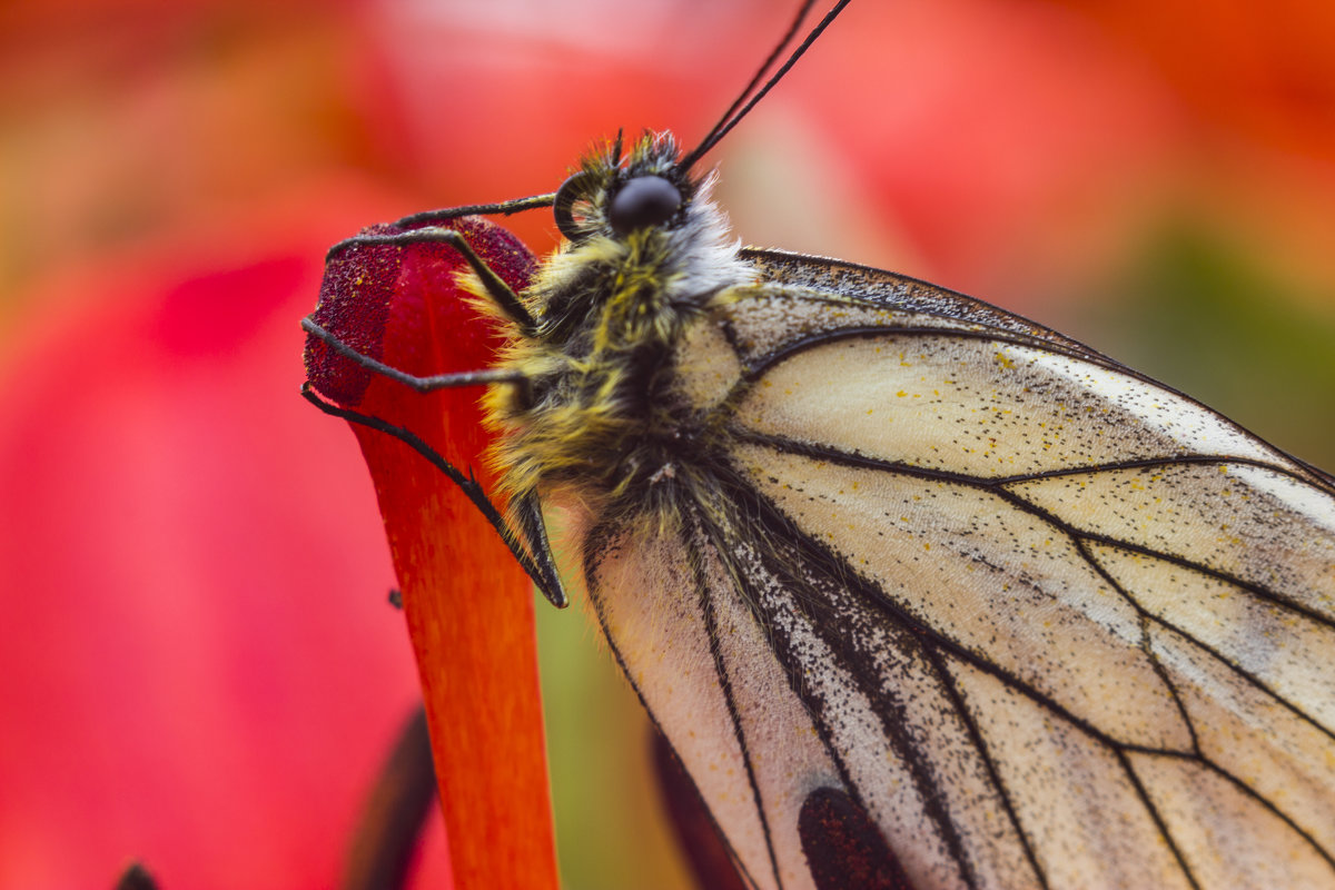
[[[447,224],[510,287],[527,284],[535,262],[513,235],[478,219]],[[400,231],[378,226],[364,234]],[[485,368],[501,340],[458,288],[465,268],[457,251],[434,242],[340,248],[314,320],[410,374]],[[320,392],[411,430],[465,474],[482,466],[481,388],[422,395],[320,340],[310,340],[306,355]],[[555,887],[531,583],[453,482],[403,442],[354,430],[403,588],[455,883]]]

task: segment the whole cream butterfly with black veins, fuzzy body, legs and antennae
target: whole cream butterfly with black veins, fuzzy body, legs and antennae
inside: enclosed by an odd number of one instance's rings
[[[494,368],[307,331],[489,387],[509,511],[445,468],[583,590],[753,886],[1335,886],[1335,479],[987,303],[730,240],[693,168],[844,5],[692,151],[335,246],[457,250]],[[549,205],[522,291],[451,228]]]

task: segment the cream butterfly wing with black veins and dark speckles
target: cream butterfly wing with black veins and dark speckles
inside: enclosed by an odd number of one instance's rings
[[[985,303],[748,259],[676,356],[712,494],[579,544],[749,879],[838,886],[825,789],[918,890],[1335,886],[1330,478]]]

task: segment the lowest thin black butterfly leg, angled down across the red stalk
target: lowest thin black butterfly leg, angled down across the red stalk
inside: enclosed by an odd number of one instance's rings
[[[510,552],[519,562],[519,566],[533,579],[533,583],[538,586],[538,590],[542,591],[542,595],[558,608],[565,608],[570,603],[570,598],[566,595],[555,570],[555,558],[551,555],[551,544],[547,542],[547,528],[542,520],[542,510],[535,495],[519,499],[517,506],[519,528],[511,528],[501,515],[501,511],[487,498],[482,490],[482,484],[473,476],[471,471],[465,475],[411,430],[328,403],[315,395],[310,383],[302,384],[302,398],[324,414],[391,435],[430,460],[437,470],[443,472],[450,482],[463,491],[469,500],[473,502],[473,506],[491,523],[491,527],[497,530],[506,547],[510,548]]]

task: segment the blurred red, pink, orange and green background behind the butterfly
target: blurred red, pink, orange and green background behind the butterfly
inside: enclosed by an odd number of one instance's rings
[[[352,436],[296,396],[323,248],[698,137],[789,7],[0,7],[0,887],[335,882],[415,677]],[[1328,3],[854,0],[712,161],[748,243],[983,296],[1335,467]],[[685,886],[633,698],[538,612],[566,885]]]

